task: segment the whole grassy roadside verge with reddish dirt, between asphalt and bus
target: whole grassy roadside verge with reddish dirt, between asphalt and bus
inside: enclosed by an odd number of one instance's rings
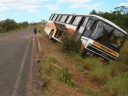
[[[46,96],[128,96],[128,41],[117,61],[105,63],[95,57],[83,59],[79,52],[68,53],[70,48],[65,52],[62,44],[42,35],[40,73]]]

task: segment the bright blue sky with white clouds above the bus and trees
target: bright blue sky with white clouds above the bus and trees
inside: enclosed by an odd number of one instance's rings
[[[16,22],[40,22],[48,20],[52,13],[110,12],[122,5],[128,7],[128,0],[0,0],[0,21],[10,18]]]

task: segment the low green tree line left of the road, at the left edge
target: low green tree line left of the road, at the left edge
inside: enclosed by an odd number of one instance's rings
[[[28,27],[28,22],[24,21],[22,23],[17,23],[13,19],[7,18],[6,20],[0,21],[0,32],[9,32],[11,30],[15,30],[18,28],[26,28]]]

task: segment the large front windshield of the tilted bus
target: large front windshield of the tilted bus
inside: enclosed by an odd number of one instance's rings
[[[105,46],[119,51],[125,36],[126,35],[117,28],[106,22],[99,21],[91,37]]]

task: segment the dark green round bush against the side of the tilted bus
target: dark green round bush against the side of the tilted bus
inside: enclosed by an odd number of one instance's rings
[[[64,52],[79,52],[80,40],[76,39],[75,35],[64,33],[62,36],[62,50]]]

